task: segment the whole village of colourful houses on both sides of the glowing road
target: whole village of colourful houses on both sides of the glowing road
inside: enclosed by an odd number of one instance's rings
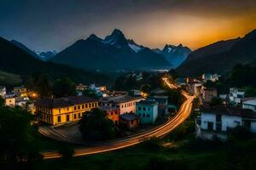
[[[134,76],[137,81],[141,80],[140,74]],[[256,98],[247,98],[239,88],[230,88],[230,94],[219,94],[216,88],[205,86],[207,82],[218,82],[219,77],[218,74],[203,74],[198,78],[177,78],[173,81],[177,87],[198,99],[196,137],[226,140],[227,132],[235,127],[246,127],[256,133]],[[5,105],[19,106],[36,116],[35,123],[42,126],[38,128],[39,133],[71,143],[82,143],[76,126],[84,114],[94,109],[104,111],[114,127],[122,129],[125,135],[160,125],[178,111],[178,105],[170,102],[165,89],[160,88],[150,93],[141,89],[109,91],[106,86],[79,83],[76,91],[76,96],[39,99],[37,92],[20,86],[11,92],[1,87],[0,95]],[[83,95],[84,91],[94,97]]]

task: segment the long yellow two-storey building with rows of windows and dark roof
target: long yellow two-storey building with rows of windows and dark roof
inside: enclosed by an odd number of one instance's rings
[[[57,99],[39,99],[36,113],[42,114],[42,122],[61,124],[79,121],[85,111],[98,107],[98,101],[86,96],[73,96]]]

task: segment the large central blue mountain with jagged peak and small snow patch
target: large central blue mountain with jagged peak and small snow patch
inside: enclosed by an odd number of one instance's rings
[[[80,39],[49,60],[89,70],[151,70],[174,66],[164,55],[126,39],[118,29],[104,39],[95,34]]]

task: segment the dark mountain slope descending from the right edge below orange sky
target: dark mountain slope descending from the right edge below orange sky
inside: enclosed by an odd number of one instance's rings
[[[177,68],[181,76],[225,74],[237,64],[256,64],[256,30],[244,37],[219,41],[199,48]]]

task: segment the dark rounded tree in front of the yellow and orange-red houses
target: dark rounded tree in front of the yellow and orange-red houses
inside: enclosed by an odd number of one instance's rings
[[[99,109],[84,113],[79,122],[79,130],[83,138],[88,140],[113,139],[116,134],[113,122]]]

